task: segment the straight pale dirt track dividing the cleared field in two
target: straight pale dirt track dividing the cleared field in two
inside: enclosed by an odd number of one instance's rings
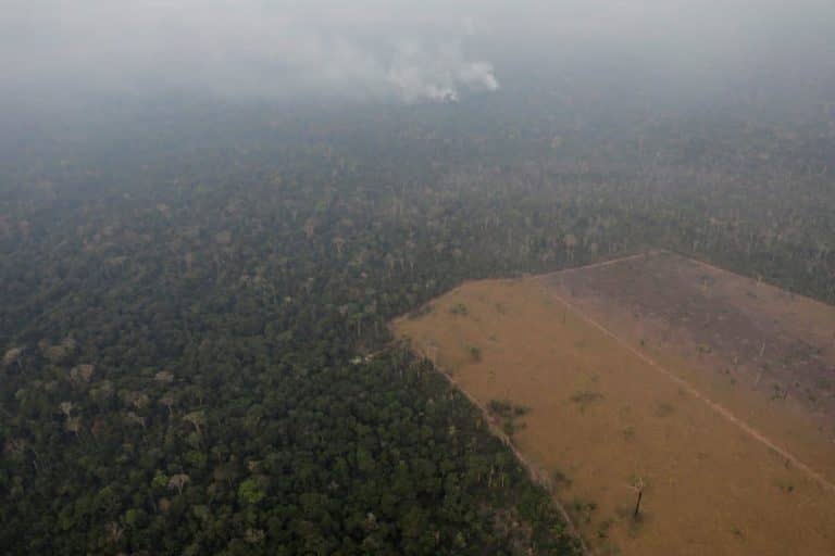
[[[681,256],[681,255],[680,255]],[[624,257],[620,258],[618,261],[625,261],[626,258],[635,258],[633,257]],[[616,261],[612,261],[609,263],[613,263]],[[588,267],[586,267],[588,268]],[[559,274],[559,273],[554,273]],[[655,359],[652,359],[647,354],[638,351],[635,349],[632,344],[626,342],[625,340],[621,339],[618,334],[609,330],[603,325],[597,323],[595,319],[579,311],[576,306],[574,306],[571,302],[565,300],[562,295],[553,292],[552,290],[549,290],[548,292],[550,295],[552,295],[557,301],[565,305],[572,313],[574,313],[577,317],[579,317],[585,323],[591,325],[594,328],[598,329],[599,331],[603,332],[609,338],[612,338],[615,342],[618,342],[620,345],[628,350],[632,354],[636,355],[639,359],[641,359],[644,363],[648,364],[650,367],[652,367],[655,370],[661,372],[665,377],[668,377],[670,380],[678,384],[681,388],[683,388],[687,393],[696,397],[697,400],[706,403],[708,407],[713,409],[716,414],[721,415],[724,419],[727,421],[736,425],[740,430],[743,430],[745,433],[747,433],[752,439],[757,440],[761,444],[765,445],[768,448],[774,451],[777,453],[781,457],[785,458],[786,462],[790,463],[801,471],[803,471],[807,476],[809,476],[811,479],[813,479],[815,482],[818,482],[821,486],[830,490],[831,492],[835,493],[835,484],[830,482],[824,476],[806,465],[803,462],[798,459],[796,456],[794,456],[790,452],[780,447],[777,444],[775,444],[771,439],[765,437],[763,433],[745,422],[743,419],[738,418],[736,415],[734,415],[728,408],[725,406],[714,402],[713,400],[709,399],[705,394],[702,394],[696,387],[687,382],[685,379],[680,377],[678,375],[672,372],[671,370],[666,369],[659,363],[657,363]]]

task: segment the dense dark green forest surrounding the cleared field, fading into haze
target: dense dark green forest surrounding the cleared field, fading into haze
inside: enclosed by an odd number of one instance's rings
[[[0,160],[0,546],[578,553],[387,321],[648,247],[835,303],[835,113],[566,103],[21,124]]]

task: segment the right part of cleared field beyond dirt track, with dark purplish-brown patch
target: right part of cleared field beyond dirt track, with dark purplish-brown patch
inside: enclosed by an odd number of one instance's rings
[[[835,307],[669,252],[541,279],[835,483]]]

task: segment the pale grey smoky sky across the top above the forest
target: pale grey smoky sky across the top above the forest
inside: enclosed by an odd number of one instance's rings
[[[832,0],[2,4],[0,94],[42,98],[200,91],[421,102],[586,61],[590,73],[701,84],[760,76],[777,86],[832,76],[835,61]]]

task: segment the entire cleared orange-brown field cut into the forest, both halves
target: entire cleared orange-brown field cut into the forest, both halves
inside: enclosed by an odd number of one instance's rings
[[[596,554],[835,554],[835,308],[653,252],[468,282],[394,329]]]

